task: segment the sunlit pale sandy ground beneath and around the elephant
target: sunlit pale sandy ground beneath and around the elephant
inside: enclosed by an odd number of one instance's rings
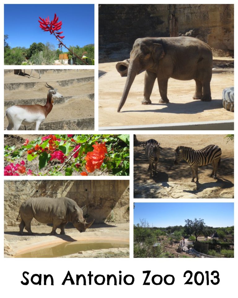
[[[169,79],[168,104],[159,103],[158,84],[155,82],[151,105],[142,105],[144,73],[136,76],[120,113],[117,107],[126,83],[116,70],[117,62],[99,64],[99,128],[125,125],[168,124],[212,120],[232,120],[234,113],[222,105],[222,91],[234,86],[234,73],[215,73],[211,80],[211,102],[193,100],[195,81]]]

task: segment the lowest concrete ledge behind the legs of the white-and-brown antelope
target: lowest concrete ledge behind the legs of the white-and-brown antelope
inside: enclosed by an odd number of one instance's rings
[[[34,125],[27,125],[26,129],[34,130]],[[21,125],[19,130],[25,130],[24,125]],[[94,130],[94,118],[42,122],[39,130]]]

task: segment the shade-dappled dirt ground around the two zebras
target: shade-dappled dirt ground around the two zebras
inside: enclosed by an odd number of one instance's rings
[[[233,198],[234,197],[234,143],[225,135],[136,135],[134,145],[134,198]],[[157,164],[157,175],[148,170],[145,142],[155,139],[163,150]],[[221,147],[222,157],[217,180],[209,177],[212,165],[198,169],[199,183],[191,182],[192,170],[187,162],[174,165],[174,149],[188,146],[201,149],[210,144]],[[196,180],[196,179],[195,179]]]

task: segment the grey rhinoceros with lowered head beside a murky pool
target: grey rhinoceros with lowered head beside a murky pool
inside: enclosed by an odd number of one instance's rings
[[[18,214],[18,217],[21,216],[19,234],[23,235],[23,229],[25,228],[29,235],[32,235],[31,221],[33,218],[42,224],[53,224],[51,235],[55,235],[56,228],[61,229],[60,234],[65,234],[64,228],[68,221],[72,222],[80,233],[85,232],[94,220],[86,223],[86,219],[83,218],[83,209],[79,208],[75,201],[66,197],[28,199],[20,206]],[[18,217],[16,220],[18,220]]]

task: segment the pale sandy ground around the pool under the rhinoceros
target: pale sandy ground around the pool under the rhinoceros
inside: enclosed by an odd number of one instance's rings
[[[4,233],[4,257],[14,257],[16,253],[33,249],[35,247],[61,242],[74,242],[80,240],[117,240],[129,244],[129,223],[93,224],[85,233],[79,233],[70,224],[65,235],[51,236],[52,227],[47,225],[32,226],[33,235],[29,236],[24,230],[24,235],[19,235],[18,226],[7,227]],[[60,232],[60,230],[57,230]],[[64,258],[128,258],[129,248],[110,248],[90,251],[79,251],[76,254],[63,256]]]

